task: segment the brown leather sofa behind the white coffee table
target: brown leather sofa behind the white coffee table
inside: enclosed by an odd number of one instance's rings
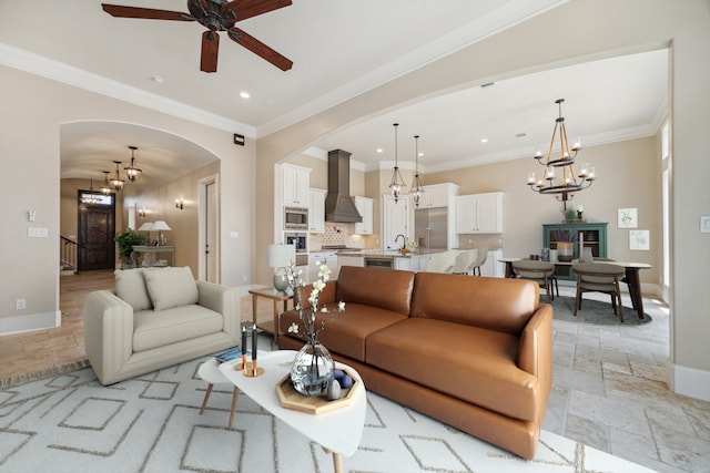
[[[552,383],[552,308],[536,282],[345,266],[321,295],[339,300],[318,340],[368,390],[535,456]],[[303,347],[297,320],[280,316],[281,349]]]

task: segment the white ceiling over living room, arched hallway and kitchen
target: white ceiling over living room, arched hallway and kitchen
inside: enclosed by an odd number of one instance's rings
[[[184,0],[111,2],[187,11]],[[276,69],[222,33],[217,72],[207,74],[199,68],[204,28],[196,22],[113,18],[100,1],[0,0],[0,63],[71,76],[71,83],[125,100],[140,94],[148,106],[260,137],[564,2],[294,0],[237,23],[291,59],[292,70]],[[415,134],[425,173],[517,158],[549,142],[560,97],[569,134],[585,145],[646,136],[665,114],[667,63],[660,50],[507,79],[389,111],[313,146],[316,154],[349,151],[366,168],[389,166],[392,124],[398,122],[402,167],[414,165]],[[242,91],[251,99],[241,99]],[[516,137],[520,133],[526,136]],[[139,147],[146,181],[213,158],[184,140],[133,125],[64,125],[61,136],[62,177],[102,177],[114,160],[124,167],[129,145]]]

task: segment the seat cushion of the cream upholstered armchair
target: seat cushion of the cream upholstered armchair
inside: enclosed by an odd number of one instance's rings
[[[133,315],[133,352],[220,332],[222,315],[197,305]]]

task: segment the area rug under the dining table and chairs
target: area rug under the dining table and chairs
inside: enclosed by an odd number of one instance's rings
[[[540,297],[540,301],[546,302],[547,296]],[[581,301],[581,309],[577,310],[577,317],[575,317],[574,297],[555,296],[552,300],[552,318],[555,320],[601,326],[640,326],[652,321],[651,316],[648,313],[643,313],[643,318],[639,319],[633,308],[623,306],[623,322],[621,322],[619,316],[613,313],[611,298],[609,296],[606,296],[606,299],[602,300],[591,299],[589,296],[585,296]]]

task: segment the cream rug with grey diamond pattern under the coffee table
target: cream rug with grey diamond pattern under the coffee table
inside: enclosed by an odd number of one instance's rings
[[[184,362],[110,387],[91,368],[0,390],[0,471],[331,472],[332,457],[240,394],[207,383]],[[304,414],[306,415],[306,414]],[[326,414],[324,414],[326,415]],[[347,429],[347,425],[343,425]],[[649,472],[542,431],[537,457],[521,460],[381,395],[367,392],[358,451],[345,472]]]

